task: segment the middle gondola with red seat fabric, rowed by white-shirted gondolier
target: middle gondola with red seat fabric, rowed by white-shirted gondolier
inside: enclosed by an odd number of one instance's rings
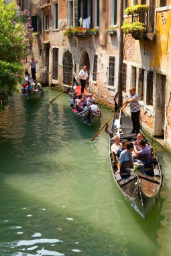
[[[70,92],[70,106],[72,108],[72,113],[78,121],[81,123],[84,123],[89,126],[93,126],[99,123],[101,113],[96,113],[91,110],[91,108],[88,108],[87,110],[84,110],[82,112],[78,112],[75,107],[75,99],[78,98],[78,94],[80,94],[80,86],[72,86],[72,90]],[[87,95],[87,91],[84,90],[84,94]]]

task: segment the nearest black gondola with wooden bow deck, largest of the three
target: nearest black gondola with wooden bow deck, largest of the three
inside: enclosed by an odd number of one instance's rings
[[[123,113],[121,115],[121,126],[119,124],[118,115],[113,119],[112,131],[116,135],[119,130],[121,141],[123,139],[127,139],[128,141],[136,139],[135,134],[129,134],[131,129],[131,118],[125,116]],[[144,139],[146,140],[146,143],[148,143],[146,137],[144,137]],[[110,139],[110,149],[112,143],[113,139]],[[148,145],[150,146],[149,143]],[[110,152],[111,170],[117,188],[123,197],[125,197],[126,201],[130,203],[131,207],[133,207],[133,209],[144,219],[147,218],[152,207],[160,198],[163,178],[158,158],[152,148],[151,152],[151,167],[145,168],[144,174],[141,174],[141,172],[131,172],[129,175],[124,172],[115,174],[115,172],[117,172],[117,158],[113,152]]]

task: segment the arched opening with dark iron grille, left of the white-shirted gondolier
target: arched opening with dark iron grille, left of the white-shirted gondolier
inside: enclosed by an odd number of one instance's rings
[[[70,86],[72,84],[73,78],[73,62],[72,62],[72,54],[70,51],[66,51],[63,57],[63,82]]]

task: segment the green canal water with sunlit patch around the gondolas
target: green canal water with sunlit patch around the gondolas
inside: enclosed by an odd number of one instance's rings
[[[0,114],[0,255],[170,255],[170,154],[154,144],[164,184],[143,220],[115,187],[108,135],[90,143],[98,128],[74,119],[66,94],[49,104],[57,94],[15,94]]]

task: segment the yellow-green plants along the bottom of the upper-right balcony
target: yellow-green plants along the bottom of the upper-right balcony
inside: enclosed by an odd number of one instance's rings
[[[131,24],[125,22],[121,26],[121,30],[123,30],[125,34],[130,34],[133,32],[146,32],[146,24],[142,22],[133,22]]]

